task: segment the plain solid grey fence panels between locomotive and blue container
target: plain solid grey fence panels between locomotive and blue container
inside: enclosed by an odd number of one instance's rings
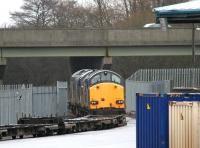
[[[136,111],[136,93],[169,93],[171,81],[133,81],[126,80],[126,112]]]

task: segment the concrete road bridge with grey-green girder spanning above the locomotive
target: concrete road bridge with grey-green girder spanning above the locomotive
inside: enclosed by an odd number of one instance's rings
[[[196,55],[200,54],[199,45],[200,32],[197,31]],[[81,57],[93,57],[92,63],[100,65],[102,57],[172,55],[192,55],[191,29],[166,32],[160,29],[0,30],[1,65],[5,65],[9,57],[68,56],[72,65],[80,63]],[[109,64],[111,60],[104,58],[104,62]]]

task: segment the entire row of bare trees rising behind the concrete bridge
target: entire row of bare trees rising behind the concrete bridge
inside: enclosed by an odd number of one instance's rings
[[[11,13],[18,27],[138,27],[153,20],[154,7],[187,0],[24,0],[22,10]]]

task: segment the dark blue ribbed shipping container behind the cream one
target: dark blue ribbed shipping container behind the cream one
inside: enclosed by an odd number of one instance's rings
[[[200,94],[137,94],[137,148],[169,148],[169,101],[200,101]]]

